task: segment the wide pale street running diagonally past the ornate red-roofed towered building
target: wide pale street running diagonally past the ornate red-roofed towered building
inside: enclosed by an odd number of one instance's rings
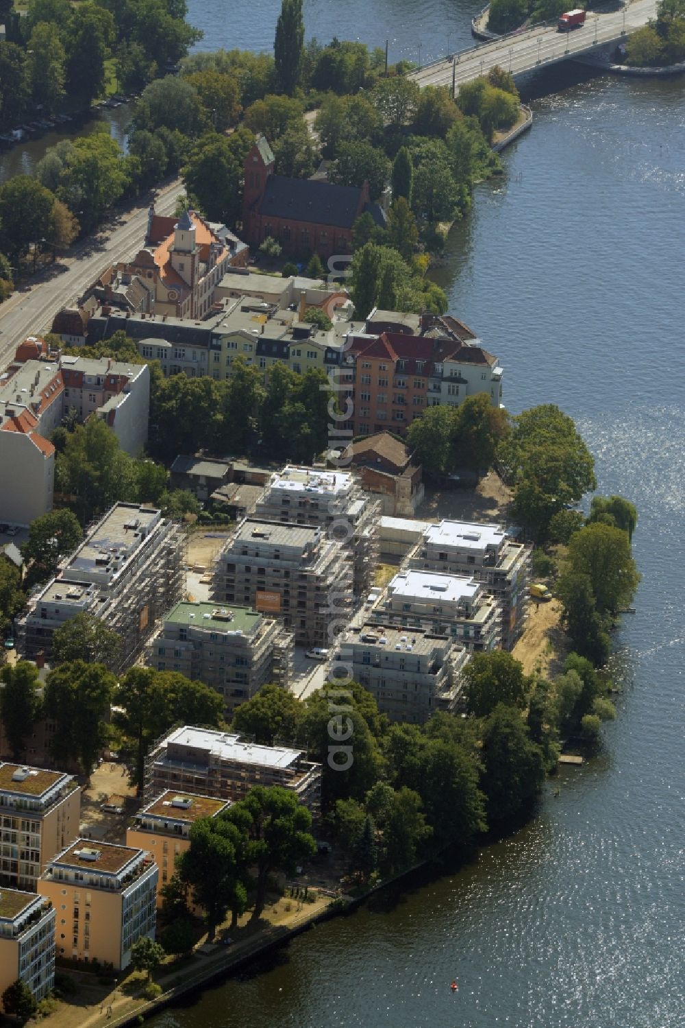
[[[182,191],[180,179],[160,189],[155,199],[157,214],[173,214]],[[147,219],[147,205],[115,216],[96,237],[80,243],[68,257],[58,260],[58,267],[66,267],[66,271],[46,268],[27,292],[13,293],[0,306],[0,368],[6,367],[27,335],[48,329],[58,310],[79,296],[105,268],[140,250]]]

